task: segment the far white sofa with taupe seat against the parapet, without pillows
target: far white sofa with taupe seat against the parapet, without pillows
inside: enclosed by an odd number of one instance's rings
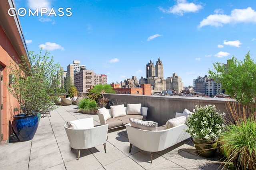
[[[147,112],[148,112],[148,107],[141,107],[141,113],[140,115],[127,115],[126,116],[121,116],[121,117],[116,117],[113,118],[111,109],[107,109],[108,113],[110,114],[111,118],[107,119],[105,121],[104,115],[101,113],[98,113],[98,117],[100,119],[100,124],[101,125],[106,125],[108,124],[108,129],[115,128],[115,127],[120,127],[124,126],[129,122],[129,118],[134,118],[134,119],[139,119],[139,120],[146,120],[147,117]],[[127,107],[125,107],[125,112],[127,113]]]

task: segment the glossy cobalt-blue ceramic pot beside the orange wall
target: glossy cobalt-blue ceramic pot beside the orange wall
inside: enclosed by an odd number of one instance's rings
[[[22,113],[13,116],[12,129],[18,141],[29,141],[33,139],[38,124],[38,114],[26,115]]]

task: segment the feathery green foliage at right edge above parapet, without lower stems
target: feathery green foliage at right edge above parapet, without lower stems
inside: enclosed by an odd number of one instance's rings
[[[235,57],[224,63],[214,63],[208,70],[210,77],[222,84],[225,93],[243,105],[251,105],[256,98],[256,63],[248,52],[244,61]]]

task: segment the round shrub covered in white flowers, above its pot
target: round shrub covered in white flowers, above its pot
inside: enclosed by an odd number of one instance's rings
[[[186,120],[188,129],[185,131],[190,133],[191,137],[203,139],[206,141],[214,141],[220,137],[224,130],[225,113],[217,111],[214,105],[197,106],[189,113]]]

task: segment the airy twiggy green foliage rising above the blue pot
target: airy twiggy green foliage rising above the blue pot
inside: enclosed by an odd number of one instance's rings
[[[60,66],[54,64],[49,54],[46,51],[43,55],[42,49],[39,54],[29,52],[28,56],[21,56],[18,61],[10,61],[8,66],[7,74],[12,75],[13,84],[6,84],[6,87],[27,114],[56,108],[54,99],[61,92],[61,75],[57,74]]]

